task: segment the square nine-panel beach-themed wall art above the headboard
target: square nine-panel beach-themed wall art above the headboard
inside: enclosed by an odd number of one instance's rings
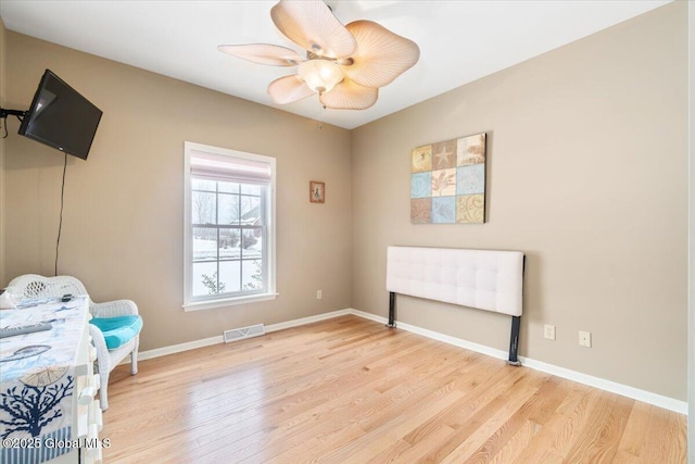
[[[485,222],[485,134],[410,152],[410,223]]]

